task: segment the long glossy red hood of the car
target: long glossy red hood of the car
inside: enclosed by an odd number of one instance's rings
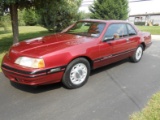
[[[23,53],[23,55],[42,56],[50,52],[89,42],[93,39],[94,38],[91,37],[66,33],[53,34],[14,44],[10,49],[10,53]]]

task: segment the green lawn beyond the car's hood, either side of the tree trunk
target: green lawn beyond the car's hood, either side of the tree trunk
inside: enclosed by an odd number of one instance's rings
[[[9,29],[9,31],[10,32],[4,32],[3,28],[0,28],[0,64],[2,62],[4,54],[13,44],[11,28]],[[19,32],[20,41],[51,34],[47,31],[47,29],[40,26],[21,26],[19,27]]]

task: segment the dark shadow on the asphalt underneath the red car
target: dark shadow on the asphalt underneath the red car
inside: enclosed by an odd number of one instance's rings
[[[92,70],[90,76],[98,74],[98,73],[106,71],[106,70],[109,70],[113,67],[119,66],[119,65],[124,64],[126,62],[129,62],[129,59],[124,59],[119,62]],[[54,84],[42,85],[42,86],[22,85],[22,84],[18,84],[15,82],[10,82],[10,83],[16,89],[19,89],[19,90],[22,90],[25,92],[29,92],[29,93],[33,93],[33,94],[38,94],[38,93],[42,93],[42,92],[46,92],[46,91],[50,91],[50,90],[55,90],[55,89],[60,89],[60,88],[67,89],[62,83],[54,83]]]

